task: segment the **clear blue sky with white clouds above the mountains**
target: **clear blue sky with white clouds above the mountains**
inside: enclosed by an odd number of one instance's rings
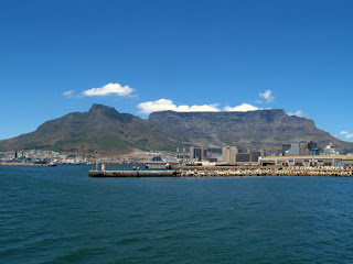
[[[0,139],[97,102],[141,118],[280,108],[353,141],[352,10],[344,0],[1,1]]]

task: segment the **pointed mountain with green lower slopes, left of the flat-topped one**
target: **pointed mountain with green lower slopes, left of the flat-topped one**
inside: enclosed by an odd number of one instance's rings
[[[126,153],[133,150],[175,150],[182,146],[148,120],[103,105],[88,112],[73,112],[47,121],[36,131],[0,141],[6,150],[55,150],[66,152],[99,151]]]

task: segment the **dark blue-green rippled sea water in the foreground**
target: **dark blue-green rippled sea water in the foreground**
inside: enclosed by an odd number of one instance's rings
[[[0,166],[0,263],[353,263],[353,178]]]

